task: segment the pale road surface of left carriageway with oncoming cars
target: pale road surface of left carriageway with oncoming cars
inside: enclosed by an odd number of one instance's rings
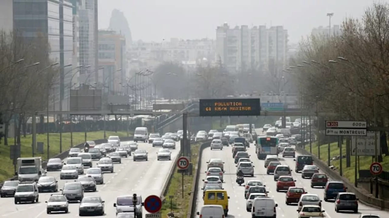
[[[97,185],[97,192],[85,192],[84,196],[100,196],[105,201],[105,214],[107,217],[116,217],[113,204],[117,196],[131,195],[136,193],[144,200],[149,195],[160,196],[163,184],[172,166],[173,159],[179,154],[179,143],[172,151],[171,161],[157,161],[156,152],[160,147],[152,147],[148,143],[138,143],[138,149],[145,149],[148,154],[148,161],[133,161],[133,156],[122,158],[121,164],[114,165],[114,173],[105,173],[105,184]],[[97,161],[93,161],[96,166]],[[84,172],[86,173],[85,168]],[[58,180],[58,189],[62,189],[67,181],[60,180],[60,171],[47,172],[47,176],[55,176]],[[53,193],[39,193],[39,202],[34,204],[14,204],[13,197],[0,198],[0,211],[2,217],[31,217],[31,218],[72,218],[78,216],[79,203],[69,204],[68,214],[47,214],[46,203]],[[143,217],[147,212],[143,208]],[[88,216],[86,216],[88,217]]]

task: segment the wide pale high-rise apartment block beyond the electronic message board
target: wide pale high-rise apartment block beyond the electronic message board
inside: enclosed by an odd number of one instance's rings
[[[247,25],[230,28],[227,23],[216,28],[216,60],[231,72],[268,69],[272,61],[287,64],[287,30],[282,26]]]

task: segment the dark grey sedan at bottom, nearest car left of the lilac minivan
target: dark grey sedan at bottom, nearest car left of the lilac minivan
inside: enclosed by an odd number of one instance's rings
[[[86,196],[82,199],[78,208],[79,216],[86,215],[100,215],[105,214],[104,202],[101,197],[98,196]]]

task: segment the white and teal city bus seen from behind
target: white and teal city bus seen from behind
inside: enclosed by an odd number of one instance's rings
[[[278,138],[274,136],[259,136],[255,152],[260,160],[264,160],[268,154],[278,155]]]

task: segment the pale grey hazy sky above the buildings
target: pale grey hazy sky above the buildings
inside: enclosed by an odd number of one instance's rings
[[[216,26],[279,26],[298,42],[312,28],[362,17],[373,0],[99,0],[99,28],[108,28],[112,9],[124,12],[133,40],[216,38]],[[380,2],[389,2],[381,0]]]

